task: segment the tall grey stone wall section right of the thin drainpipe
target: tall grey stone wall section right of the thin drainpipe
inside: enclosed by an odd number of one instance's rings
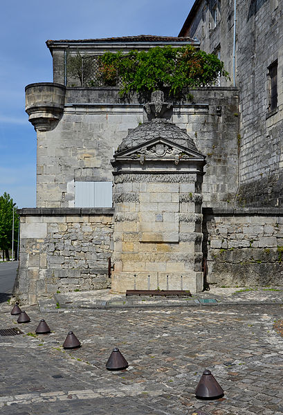
[[[283,194],[283,1],[238,3],[237,79],[241,95],[238,202],[242,207],[280,206]],[[276,59],[277,109],[269,111],[268,66]]]

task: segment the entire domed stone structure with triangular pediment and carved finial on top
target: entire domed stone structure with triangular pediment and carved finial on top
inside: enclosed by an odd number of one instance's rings
[[[160,98],[160,95],[158,96]],[[129,131],[114,155],[112,290],[203,289],[201,183],[204,156],[192,138],[157,117]],[[159,116],[159,118],[158,118]]]

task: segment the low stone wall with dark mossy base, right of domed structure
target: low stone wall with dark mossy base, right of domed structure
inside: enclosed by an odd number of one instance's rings
[[[203,210],[206,282],[283,286],[283,210]]]

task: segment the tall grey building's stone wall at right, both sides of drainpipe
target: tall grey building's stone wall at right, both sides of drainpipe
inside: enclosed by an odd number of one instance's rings
[[[283,194],[283,0],[236,1],[234,77],[234,1],[196,1],[181,35],[196,37],[201,49],[220,55],[230,80],[239,89],[239,197],[241,208],[281,206]],[[269,111],[268,66],[277,60],[277,108]],[[199,147],[200,148],[200,147]]]

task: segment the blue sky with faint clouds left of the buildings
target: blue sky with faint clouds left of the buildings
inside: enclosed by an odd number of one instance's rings
[[[10,0],[1,5],[0,195],[35,207],[36,133],[24,88],[52,82],[47,39],[177,36],[193,0]]]

